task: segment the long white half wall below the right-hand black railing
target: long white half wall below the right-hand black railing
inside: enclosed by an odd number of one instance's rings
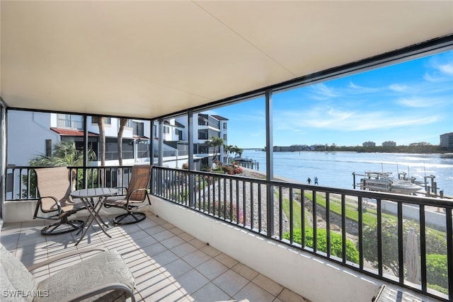
[[[372,301],[379,283],[242,228],[151,197],[151,212],[295,293],[317,301]]]

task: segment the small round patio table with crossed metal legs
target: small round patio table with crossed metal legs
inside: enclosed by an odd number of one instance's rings
[[[81,201],[84,203],[86,209],[88,209],[89,212],[89,215],[82,228],[84,229],[84,231],[82,232],[82,235],[79,238],[79,240],[76,242],[76,245],[78,245],[80,241],[84,238],[91,224],[93,224],[93,221],[95,220],[101,227],[101,230],[105,233],[105,235],[107,235],[110,238],[112,237],[107,233],[106,228],[108,227],[108,225],[103,221],[101,216],[99,216],[99,211],[101,211],[105,199],[107,199],[107,197],[109,196],[117,194],[117,192],[118,192],[117,189],[113,189],[110,187],[96,187],[93,189],[83,189],[71,192],[71,197],[81,199]]]

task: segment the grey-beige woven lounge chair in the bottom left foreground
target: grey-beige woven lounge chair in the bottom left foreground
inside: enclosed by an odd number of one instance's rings
[[[2,301],[129,301],[134,302],[134,277],[120,254],[103,252],[37,281],[30,272],[57,260],[101,248],[75,250],[26,268],[0,244]],[[4,299],[4,300],[3,300]]]

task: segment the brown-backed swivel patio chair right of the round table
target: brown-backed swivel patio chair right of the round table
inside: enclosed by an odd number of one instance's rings
[[[151,165],[134,165],[129,185],[124,187],[126,194],[108,197],[105,200],[104,207],[116,207],[126,211],[125,214],[116,216],[113,219],[115,224],[132,224],[146,218],[146,214],[138,212],[138,210],[151,205],[151,200],[148,196],[151,167]]]

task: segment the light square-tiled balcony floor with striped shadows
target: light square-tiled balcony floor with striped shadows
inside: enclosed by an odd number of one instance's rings
[[[135,277],[137,301],[308,301],[152,214],[137,224],[109,228],[112,238],[93,226],[78,246],[76,232],[41,236],[45,223],[4,223],[0,241],[26,266],[74,249],[116,249]],[[42,279],[89,256],[61,260],[33,274]]]

